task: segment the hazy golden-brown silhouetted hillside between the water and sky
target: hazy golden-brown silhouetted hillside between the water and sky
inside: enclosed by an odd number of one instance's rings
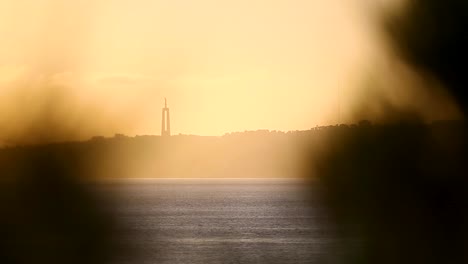
[[[427,131],[451,131],[452,128],[458,131],[459,126],[462,126],[460,122],[439,122],[418,125],[419,130],[407,130],[401,125],[361,122],[287,133],[247,131],[222,137],[117,134],[84,142],[8,147],[0,151],[0,162],[8,166],[24,156],[48,153],[58,157],[59,164],[79,178],[301,177],[304,164],[309,165],[310,160],[313,163],[317,155],[334,147],[328,145],[330,139],[343,140],[366,131],[372,131],[371,136],[379,131],[411,133],[414,138],[420,138]]]

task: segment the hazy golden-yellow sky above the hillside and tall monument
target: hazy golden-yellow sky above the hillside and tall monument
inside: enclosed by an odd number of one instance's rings
[[[0,136],[159,134],[164,97],[173,134],[343,121],[382,50],[376,2],[0,0]]]

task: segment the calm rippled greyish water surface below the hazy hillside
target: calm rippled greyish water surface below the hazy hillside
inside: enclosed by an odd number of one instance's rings
[[[117,188],[113,185],[112,188]],[[301,180],[159,179],[118,184],[138,263],[318,263],[329,239]]]

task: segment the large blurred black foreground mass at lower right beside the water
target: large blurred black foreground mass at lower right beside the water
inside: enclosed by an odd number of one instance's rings
[[[339,127],[318,162],[338,263],[468,263],[464,122]]]

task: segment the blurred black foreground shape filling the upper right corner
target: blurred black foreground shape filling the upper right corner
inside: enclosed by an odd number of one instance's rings
[[[384,29],[397,55],[422,77],[440,82],[468,114],[468,1],[406,0]]]

